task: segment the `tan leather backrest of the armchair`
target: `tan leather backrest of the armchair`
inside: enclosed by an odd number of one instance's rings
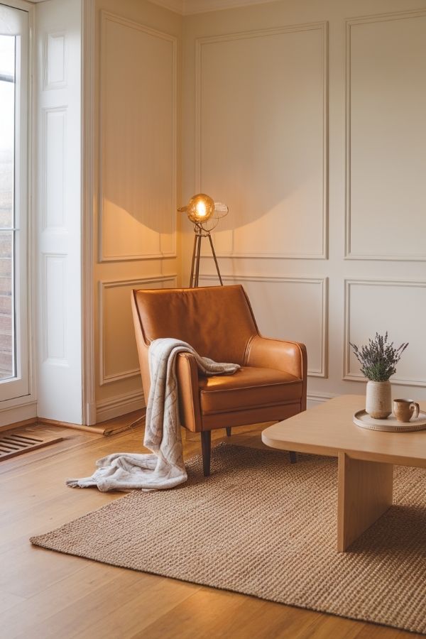
[[[246,347],[258,334],[241,285],[133,290],[132,309],[145,393],[148,347],[154,339],[175,337],[202,356],[244,364]]]

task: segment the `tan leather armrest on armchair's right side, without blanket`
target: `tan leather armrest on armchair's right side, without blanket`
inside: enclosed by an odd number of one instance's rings
[[[305,344],[268,339],[256,335],[249,343],[246,353],[247,366],[275,368],[302,379],[306,386],[307,355]]]

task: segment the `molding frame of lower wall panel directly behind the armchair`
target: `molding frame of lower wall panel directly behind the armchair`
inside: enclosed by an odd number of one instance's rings
[[[217,275],[200,275],[201,280],[214,280],[217,282]],[[328,278],[310,278],[310,277],[281,277],[274,275],[222,275],[224,282],[244,283],[244,282],[263,282],[263,283],[290,283],[290,284],[317,284],[321,287],[322,304],[321,304],[321,366],[318,369],[308,368],[308,377],[324,377],[328,376]]]

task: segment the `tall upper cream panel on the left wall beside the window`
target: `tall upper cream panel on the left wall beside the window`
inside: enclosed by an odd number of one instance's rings
[[[175,257],[177,38],[101,15],[99,259]]]

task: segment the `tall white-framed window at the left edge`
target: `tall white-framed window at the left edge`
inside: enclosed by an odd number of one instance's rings
[[[0,4],[0,406],[28,394],[28,11]]]

